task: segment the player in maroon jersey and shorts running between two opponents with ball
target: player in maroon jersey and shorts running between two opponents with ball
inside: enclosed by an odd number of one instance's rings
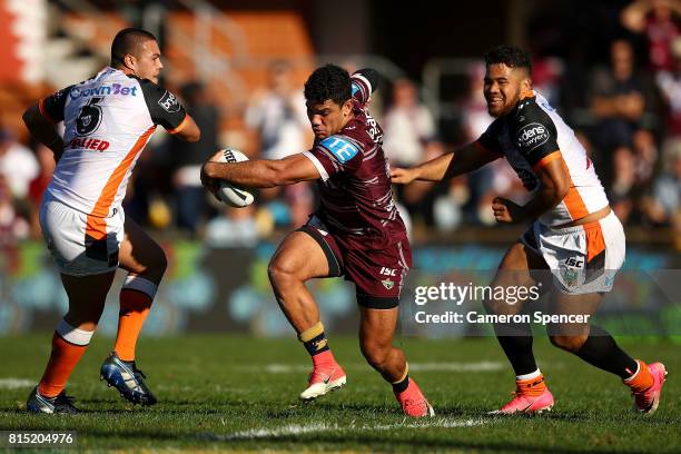
[[[305,287],[315,277],[345,276],[356,286],[365,358],[393,385],[405,414],[432,416],[433,408],[408,376],[404,353],[393,346],[412,251],[393,203],[383,131],[367,111],[377,80],[372,69],[351,77],[337,66],[318,68],[305,82],[315,134],[310,150],[278,160],[236,164],[217,162],[220,151],[204,165],[203,180],[213,191],[220,180],[250,188],[318,181],[319,209],[284,239],[268,269],[279,306],[313,359],[300,399],[314,399],[346,383],[317,304]]]

